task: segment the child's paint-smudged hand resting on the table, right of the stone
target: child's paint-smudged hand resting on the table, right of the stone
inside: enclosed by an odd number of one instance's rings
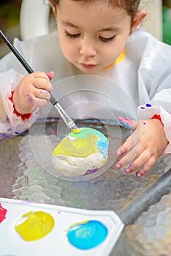
[[[129,120],[129,125],[134,130],[126,142],[118,148],[118,157],[124,156],[116,163],[115,167],[121,169],[126,166],[125,173],[137,170],[137,177],[143,176],[155,164],[167,146],[167,138],[160,120]]]

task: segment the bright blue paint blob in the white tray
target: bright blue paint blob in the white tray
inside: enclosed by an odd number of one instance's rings
[[[96,220],[80,222],[69,227],[66,236],[77,249],[92,249],[107,237],[107,227]]]

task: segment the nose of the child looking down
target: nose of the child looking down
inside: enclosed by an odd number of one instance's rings
[[[83,56],[95,56],[96,46],[93,42],[84,40],[80,46],[80,55]]]

